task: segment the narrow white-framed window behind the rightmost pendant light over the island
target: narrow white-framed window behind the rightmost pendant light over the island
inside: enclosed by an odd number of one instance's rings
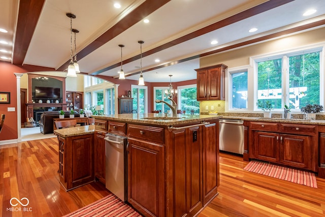
[[[147,86],[131,85],[133,109],[138,113],[148,112],[148,88]]]

